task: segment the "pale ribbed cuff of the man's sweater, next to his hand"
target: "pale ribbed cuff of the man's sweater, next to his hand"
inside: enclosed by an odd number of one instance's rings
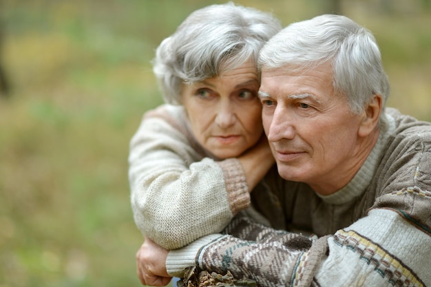
[[[200,248],[222,236],[224,235],[218,233],[207,235],[200,237],[183,248],[169,251],[166,259],[167,273],[170,276],[183,277],[185,268],[196,266],[196,258],[198,257]]]

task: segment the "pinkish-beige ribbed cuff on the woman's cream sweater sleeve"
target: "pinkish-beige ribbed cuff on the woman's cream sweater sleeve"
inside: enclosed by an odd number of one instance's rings
[[[233,215],[250,206],[250,193],[244,169],[238,159],[229,158],[218,162],[226,184],[227,200]]]

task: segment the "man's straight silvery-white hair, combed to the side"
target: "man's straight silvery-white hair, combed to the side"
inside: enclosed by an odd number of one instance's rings
[[[262,48],[259,58],[260,69],[286,66],[306,72],[324,63],[332,65],[335,92],[347,97],[353,113],[363,111],[373,94],[381,95],[384,107],[390,87],[375,37],[347,17],[324,14],[292,23]]]

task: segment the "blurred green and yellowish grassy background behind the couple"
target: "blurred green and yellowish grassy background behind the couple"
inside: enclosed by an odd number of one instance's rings
[[[142,235],[129,206],[129,139],[161,103],[149,61],[187,15],[210,3],[3,0],[0,58],[0,287],[140,286]],[[283,25],[327,12],[324,0],[238,0]],[[426,0],[341,0],[375,33],[388,105],[431,120]]]

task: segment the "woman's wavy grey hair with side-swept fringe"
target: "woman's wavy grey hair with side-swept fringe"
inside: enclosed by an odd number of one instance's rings
[[[183,83],[219,76],[249,61],[281,30],[272,14],[233,3],[191,13],[160,43],[153,70],[166,103],[180,105]]]

